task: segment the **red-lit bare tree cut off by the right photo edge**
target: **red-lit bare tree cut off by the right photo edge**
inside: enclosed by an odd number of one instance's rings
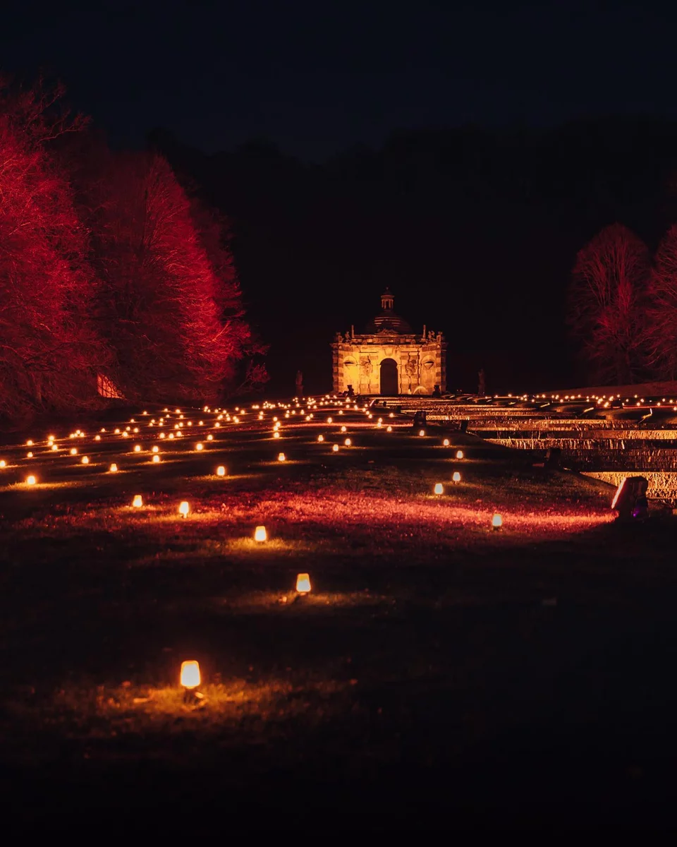
[[[650,362],[662,379],[677,379],[677,224],[658,246],[649,278]]]

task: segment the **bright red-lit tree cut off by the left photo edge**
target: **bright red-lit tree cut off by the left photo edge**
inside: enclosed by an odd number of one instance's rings
[[[80,119],[61,89],[0,80],[0,413],[26,418],[96,399],[107,350],[88,321],[85,231],[50,142]]]

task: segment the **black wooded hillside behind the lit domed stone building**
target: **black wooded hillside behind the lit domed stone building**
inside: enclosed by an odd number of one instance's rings
[[[377,311],[449,339],[449,388],[546,389],[592,374],[566,325],[576,253],[623,221],[652,249],[677,219],[677,123],[581,120],[553,130],[395,133],[302,163],[266,142],[205,155],[151,145],[233,224],[248,314],[271,388],[330,388],[329,342]]]

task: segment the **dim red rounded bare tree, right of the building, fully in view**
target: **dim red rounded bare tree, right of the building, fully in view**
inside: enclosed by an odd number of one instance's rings
[[[569,322],[597,379],[633,381],[645,356],[649,254],[622,224],[605,227],[576,257]]]

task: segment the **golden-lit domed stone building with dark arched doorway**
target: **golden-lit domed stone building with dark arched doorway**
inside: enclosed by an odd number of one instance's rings
[[[393,311],[388,289],[381,295],[381,312],[363,333],[336,334],[332,344],[333,390],[352,385],[355,394],[432,394],[447,388],[447,342],[441,332],[413,332]]]

